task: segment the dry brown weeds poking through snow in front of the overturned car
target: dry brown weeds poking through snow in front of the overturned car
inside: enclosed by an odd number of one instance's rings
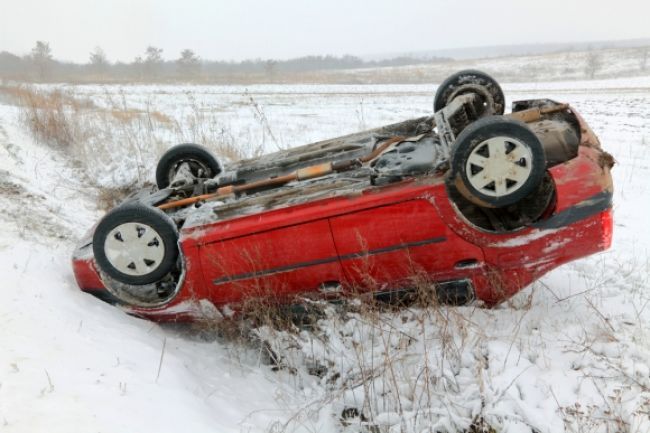
[[[525,386],[530,375],[536,374],[525,362],[519,367],[518,359],[544,351],[529,346],[536,344],[535,340],[525,335],[526,329],[534,326],[541,330],[543,324],[533,307],[533,293],[513,300],[507,311],[514,317],[504,318],[498,310],[439,305],[422,275],[416,273],[412,282],[416,290],[403,302],[378,302],[363,293],[350,295],[339,304],[298,299],[306,308],[297,316],[295,309],[288,310],[278,299],[260,296],[247,301],[234,319],[208,322],[202,329],[208,333],[217,330],[235,361],[250,362],[250,353],[258,353],[259,362],[277,371],[285,386],[293,383],[297,395],[302,395],[305,387],[318,388],[309,398],[288,403],[290,415],[274,424],[272,431],[319,431],[318,420],[324,413],[333,416],[342,431],[501,431],[507,423],[498,415],[500,405],[516,400],[513,395],[521,392],[522,383]],[[581,305],[578,298],[569,301]],[[603,368],[605,376],[594,373],[585,380],[593,382],[605,403],[558,403],[558,416],[571,432],[636,433],[626,418],[621,392],[617,385],[609,385],[606,377],[616,375],[622,378],[621,383],[644,393],[648,388],[619,365],[622,360],[598,352],[598,344],[617,344],[616,332],[597,310],[597,302],[584,302],[585,308],[595,312],[596,325],[600,321],[602,326],[594,328],[594,320],[586,320],[584,341],[560,346],[583,353],[585,362],[593,358],[594,365]],[[501,327],[499,332],[510,336],[490,336],[490,327],[484,329],[486,323]],[[602,335],[595,335],[594,329],[600,329],[596,334]],[[491,350],[495,343],[505,350]],[[244,357],[248,357],[246,361]],[[514,370],[520,372],[511,378],[507,372]],[[520,383],[524,374],[527,378]],[[468,389],[474,394],[468,394]],[[291,401],[290,396],[284,398]],[[646,416],[649,402],[639,403],[633,415]],[[469,410],[468,405],[477,404]],[[534,420],[521,413],[506,417],[508,422],[515,420],[522,428],[528,425],[537,431],[528,424]],[[445,424],[437,424],[445,418]]]

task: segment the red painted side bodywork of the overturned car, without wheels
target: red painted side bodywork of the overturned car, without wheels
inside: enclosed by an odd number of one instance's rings
[[[552,208],[518,230],[495,233],[473,225],[448,196],[444,177],[428,175],[183,227],[183,275],[175,294],[156,305],[117,301],[88,242],[74,254],[75,277],[83,291],[157,321],[200,318],[207,304],[223,308],[255,296],[290,302],[332,287],[389,292],[420,279],[443,292],[460,288],[464,301],[492,305],[610,246],[610,164],[578,121],[578,155],[548,170],[556,192]]]

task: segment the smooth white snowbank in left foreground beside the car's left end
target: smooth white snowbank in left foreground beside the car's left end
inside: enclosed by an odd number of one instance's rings
[[[254,356],[166,332],[77,289],[70,257],[101,216],[93,193],[57,152],[23,134],[15,107],[1,106],[0,126],[0,431],[270,425],[285,386]]]

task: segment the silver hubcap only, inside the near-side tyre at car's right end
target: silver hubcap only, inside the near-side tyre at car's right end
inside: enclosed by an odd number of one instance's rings
[[[521,188],[531,175],[533,154],[522,141],[512,137],[488,138],[469,154],[467,179],[482,194],[503,197]]]

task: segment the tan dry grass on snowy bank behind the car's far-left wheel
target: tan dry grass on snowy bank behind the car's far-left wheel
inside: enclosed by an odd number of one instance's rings
[[[199,143],[230,161],[262,152],[261,145],[237,142],[193,99],[188,112],[174,117],[150,103],[134,108],[124,93],[90,100],[59,89],[20,86],[2,87],[0,94],[19,105],[23,124],[38,142],[65,152],[84,169],[88,183],[107,189],[100,194],[102,206],[114,201],[111,196],[152,182],[158,159],[174,144]]]

